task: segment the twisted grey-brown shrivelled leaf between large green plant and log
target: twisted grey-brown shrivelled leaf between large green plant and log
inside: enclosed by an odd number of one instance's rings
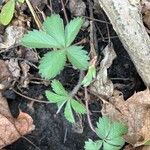
[[[100,63],[100,70],[97,73],[96,81],[90,89],[99,95],[109,98],[113,94],[114,87],[113,83],[108,78],[107,69],[112,65],[113,60],[116,58],[112,43],[106,46],[103,50],[103,55],[104,58]]]

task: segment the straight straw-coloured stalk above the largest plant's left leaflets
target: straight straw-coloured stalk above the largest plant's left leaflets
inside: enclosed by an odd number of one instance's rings
[[[39,17],[37,16],[37,14],[35,13],[35,10],[34,10],[34,8],[32,7],[30,1],[29,1],[29,0],[26,0],[26,3],[27,3],[27,5],[28,5],[28,7],[29,7],[29,9],[30,9],[30,11],[31,11],[31,14],[32,14],[32,16],[33,16],[33,18],[34,18],[34,20],[35,20],[35,22],[36,22],[38,28],[41,29],[42,23],[41,23]]]

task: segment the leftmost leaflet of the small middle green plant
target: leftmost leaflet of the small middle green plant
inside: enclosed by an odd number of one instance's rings
[[[50,103],[63,102],[68,99],[68,97],[66,97],[66,96],[57,95],[51,91],[45,91],[45,95],[46,95],[47,99],[50,101]]]

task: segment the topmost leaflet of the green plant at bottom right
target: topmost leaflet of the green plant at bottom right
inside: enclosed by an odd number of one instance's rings
[[[111,122],[107,117],[99,118],[99,122],[97,122],[96,133],[101,139],[105,139],[110,131]]]

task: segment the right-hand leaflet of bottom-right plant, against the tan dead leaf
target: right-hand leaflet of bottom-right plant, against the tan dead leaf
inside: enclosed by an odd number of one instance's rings
[[[113,139],[128,132],[128,128],[121,122],[114,122],[111,125],[109,135],[107,139]]]

